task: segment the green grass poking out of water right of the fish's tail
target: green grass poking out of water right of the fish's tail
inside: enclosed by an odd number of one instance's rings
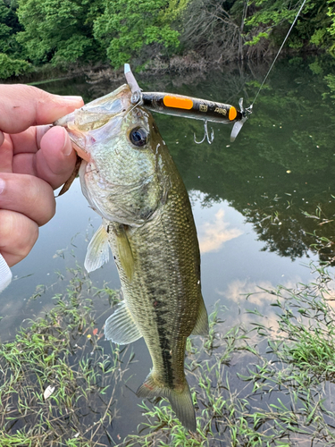
[[[120,445],[333,446],[334,297],[331,276],[322,267],[318,272],[317,282],[296,291],[268,291],[278,329],[253,310],[252,328],[226,331],[215,310],[212,340],[188,342],[197,434],[180,426],[167,401],[143,403],[147,423]]]

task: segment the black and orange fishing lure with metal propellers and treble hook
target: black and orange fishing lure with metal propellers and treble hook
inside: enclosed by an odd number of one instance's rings
[[[211,138],[208,136],[207,122],[220,122],[222,124],[233,122],[234,127],[230,135],[230,141],[233,141],[236,139],[244,122],[247,121],[248,111],[247,109],[243,109],[242,98],[239,100],[240,110],[237,110],[233,105],[217,103],[197,97],[186,97],[163,92],[142,92],[130,70],[129,63],[125,63],[124,65],[124,74],[133,94],[131,98],[133,104],[140,103],[147,109],[160,114],[171,114],[204,121],[205,137],[198,143],[202,143],[205,138],[207,138],[209,143],[212,143],[214,139],[213,130]]]

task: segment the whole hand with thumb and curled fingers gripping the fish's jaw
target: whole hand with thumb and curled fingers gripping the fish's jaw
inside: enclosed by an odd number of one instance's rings
[[[53,190],[74,169],[67,132],[50,124],[82,105],[81,97],[0,85],[0,253],[8,266],[28,255],[38,226],[54,216]]]

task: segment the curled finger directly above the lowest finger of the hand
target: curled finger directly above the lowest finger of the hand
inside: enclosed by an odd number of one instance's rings
[[[38,177],[1,173],[0,209],[26,215],[41,226],[54,216],[54,191],[46,181]]]

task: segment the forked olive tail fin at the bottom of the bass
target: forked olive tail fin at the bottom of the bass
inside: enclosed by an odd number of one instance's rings
[[[153,373],[150,373],[147,376],[146,381],[138,388],[136,394],[138,397],[165,397],[170,401],[172,409],[176,413],[181,424],[192,432],[197,431],[196,414],[186,379],[183,390],[178,392],[172,388],[159,387],[155,383]]]

